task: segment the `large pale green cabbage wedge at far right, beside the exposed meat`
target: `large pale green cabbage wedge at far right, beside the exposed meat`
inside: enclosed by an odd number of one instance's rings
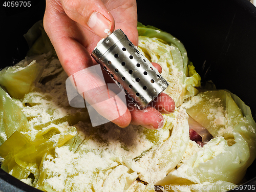
[[[256,155],[256,125],[248,106],[225,90],[201,92],[182,106],[215,138],[157,184],[218,189],[238,184]]]

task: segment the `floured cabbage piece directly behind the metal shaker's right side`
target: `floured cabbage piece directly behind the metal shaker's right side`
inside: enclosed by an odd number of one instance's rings
[[[161,39],[145,36],[139,37],[138,48],[148,60],[162,67],[161,75],[169,83],[164,92],[174,99],[176,106],[198,93],[195,87],[200,86],[201,77],[192,63],[185,61],[186,52],[182,56],[174,44],[168,45]]]

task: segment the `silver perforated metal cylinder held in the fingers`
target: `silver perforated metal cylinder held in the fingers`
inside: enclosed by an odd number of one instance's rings
[[[102,39],[92,57],[140,110],[168,87],[167,81],[121,29]]]

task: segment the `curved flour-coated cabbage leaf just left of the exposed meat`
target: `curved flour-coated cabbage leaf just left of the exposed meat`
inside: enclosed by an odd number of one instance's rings
[[[134,162],[135,165],[141,167],[138,170],[140,179],[148,183],[156,183],[176,167],[189,141],[188,116],[185,110],[179,108],[170,116],[172,116],[172,121],[166,121],[163,129],[169,127],[173,134]]]

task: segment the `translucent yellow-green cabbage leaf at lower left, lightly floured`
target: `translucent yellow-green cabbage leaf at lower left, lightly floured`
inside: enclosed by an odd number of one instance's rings
[[[57,126],[57,125],[56,125]],[[66,125],[66,127],[68,127]],[[52,135],[49,138],[50,135]],[[18,179],[27,179],[32,173],[36,178],[38,168],[45,154],[51,154],[55,147],[60,147],[76,134],[75,127],[65,131],[51,133],[52,129],[41,132],[39,139],[30,141],[16,131],[0,146],[0,156],[5,158],[2,168]]]

